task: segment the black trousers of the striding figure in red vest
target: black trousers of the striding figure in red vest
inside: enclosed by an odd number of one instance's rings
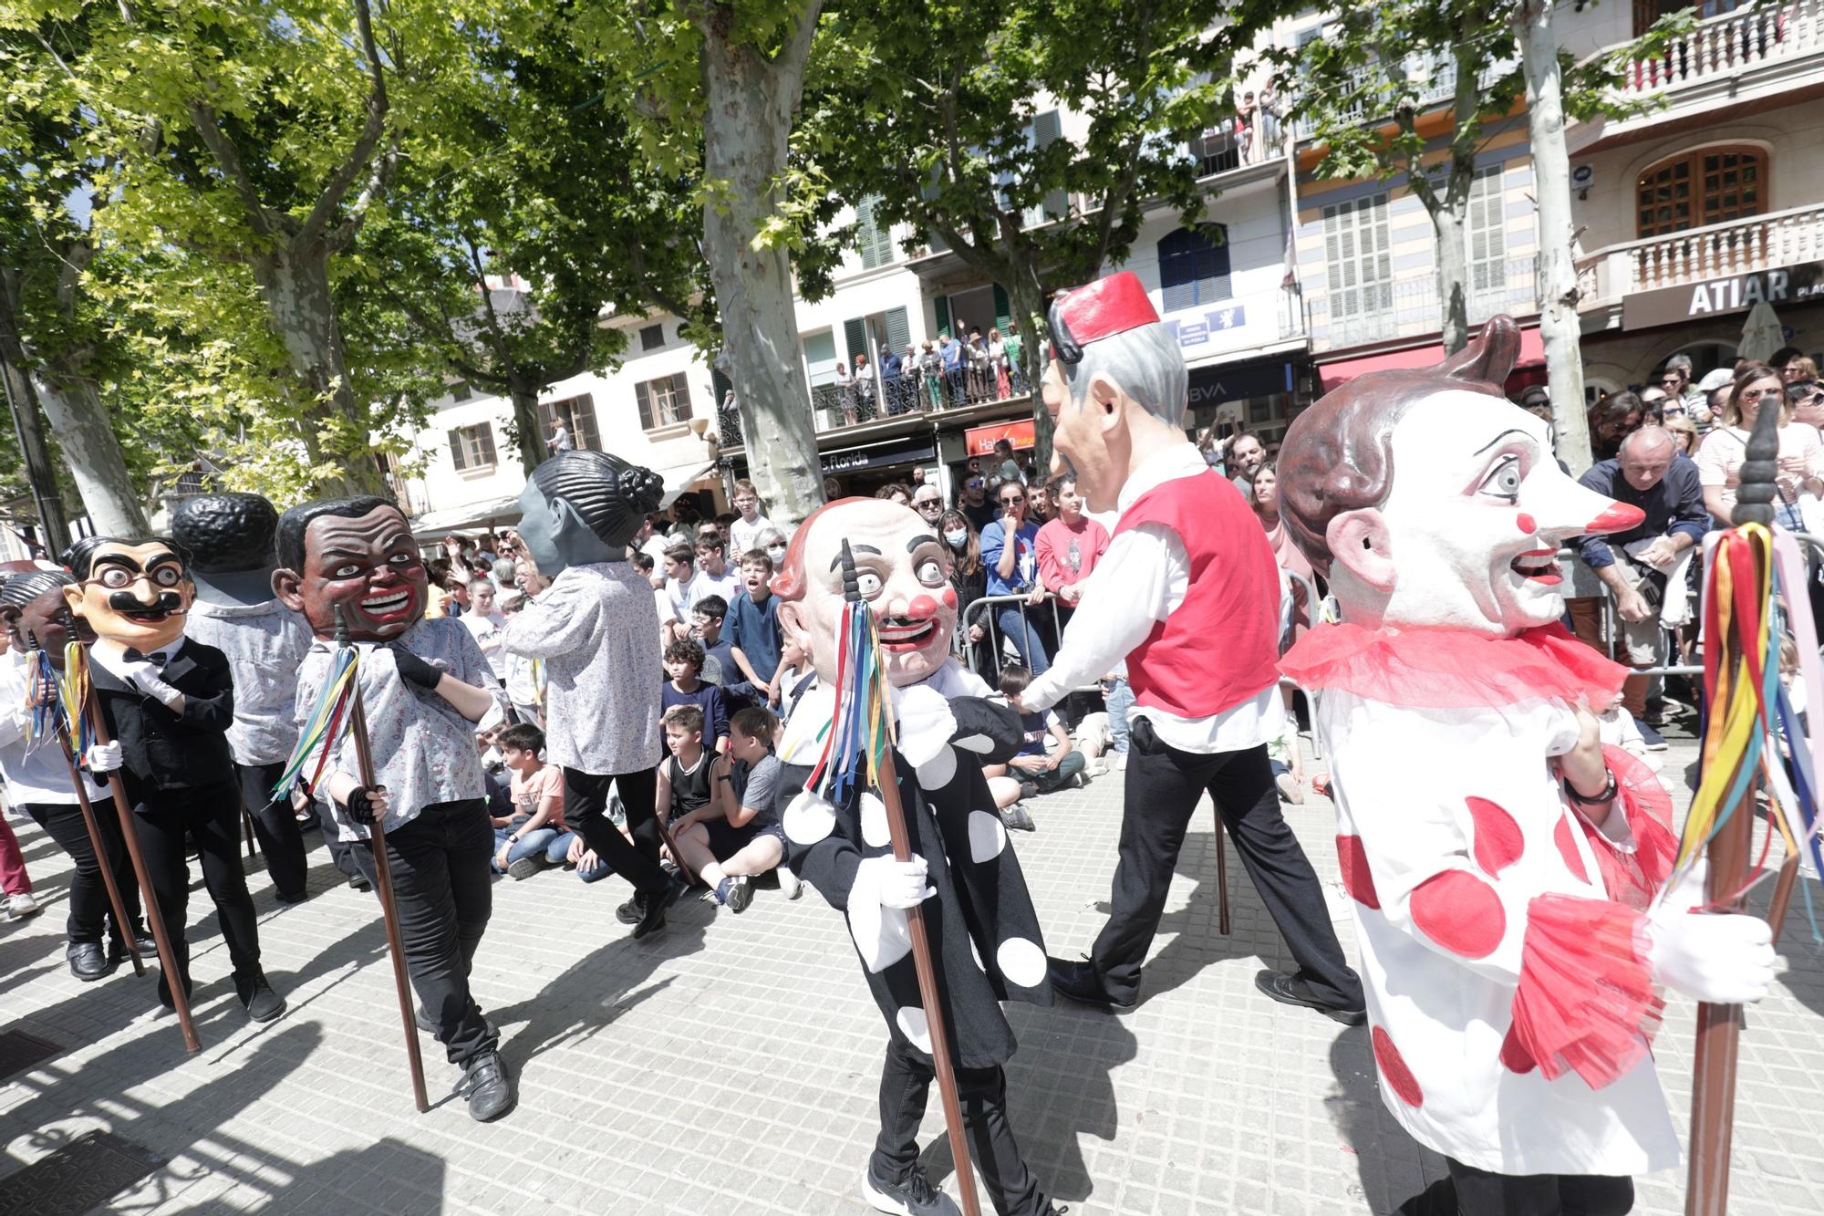
[[[1145,718],[1135,721],[1131,739],[1113,911],[1091,949],[1109,995],[1127,1001],[1140,991],[1140,964],[1158,933],[1186,827],[1207,791],[1301,979],[1321,1001],[1361,1008],[1363,986],[1330,928],[1322,887],[1279,811],[1266,747],[1180,752]]]

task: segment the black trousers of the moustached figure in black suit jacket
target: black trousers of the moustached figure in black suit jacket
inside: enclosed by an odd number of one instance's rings
[[[146,791],[133,805],[139,847],[146,856],[151,891],[159,896],[164,931],[177,951],[177,970],[190,988],[190,942],[184,920],[190,906],[190,856],[186,836],[202,860],[202,886],[215,904],[215,917],[228,942],[235,991],[246,995],[246,982],[259,971],[259,917],[246,893],[241,869],[241,791],[233,781],[190,789]]]

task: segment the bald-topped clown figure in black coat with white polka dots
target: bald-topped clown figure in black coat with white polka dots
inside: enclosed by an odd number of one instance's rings
[[[917,1163],[917,1127],[932,1081],[930,1012],[919,1002],[907,907],[925,904],[925,931],[945,993],[952,1064],[976,1167],[1003,1216],[1042,1216],[1052,1203],[1027,1170],[1007,1123],[1014,1033],[1001,1001],[1051,1004],[1045,946],[1020,860],[981,776],[1021,741],[1018,716],[987,699],[979,677],[950,657],[956,592],[936,528],[905,506],[843,498],[793,533],[773,575],[781,635],[817,668],[779,741],[786,864],[848,918],[868,990],[886,1019],[881,1134],[863,1194],[885,1212],[948,1212]],[[850,570],[845,570],[845,564]],[[872,792],[830,805],[804,791],[835,716],[845,575],[874,612],[892,710],[894,763],[912,860],[896,862],[886,811]]]

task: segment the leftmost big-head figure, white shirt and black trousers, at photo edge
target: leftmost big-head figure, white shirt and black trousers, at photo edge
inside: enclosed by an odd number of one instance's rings
[[[82,822],[77,791],[69,785],[69,765],[64,749],[55,739],[27,745],[29,719],[38,697],[53,696],[38,681],[38,654],[62,668],[64,645],[82,637],[77,619],[64,599],[64,588],[73,586],[62,570],[27,570],[0,582],[0,626],[5,628],[11,650],[0,655],[0,776],[11,803],[31,816],[57,845],[69,854],[75,873],[69,880],[67,946],[64,957],[69,973],[91,982],[111,973],[126,957],[126,933],[146,937],[139,922],[139,882],[128,862],[126,842],[120,838],[120,820],[106,809],[108,787],[84,774],[86,794],[97,807],[95,827],[100,836],[100,854]],[[113,873],[120,904],[133,924],[115,922],[108,906],[108,886],[102,865]],[[106,933],[106,949],[102,937]],[[153,953],[146,938],[146,955]]]

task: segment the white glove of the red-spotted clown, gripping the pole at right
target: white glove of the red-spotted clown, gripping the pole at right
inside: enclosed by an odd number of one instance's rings
[[[1773,929],[1746,913],[1694,913],[1705,864],[1647,913],[1653,979],[1711,1004],[1751,1004],[1773,986]]]

